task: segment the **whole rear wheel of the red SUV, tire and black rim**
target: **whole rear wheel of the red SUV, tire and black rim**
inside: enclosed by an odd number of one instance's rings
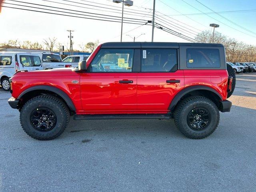
[[[191,96],[181,101],[174,111],[178,130],[188,138],[202,139],[212,134],[220,120],[219,110],[208,98]]]

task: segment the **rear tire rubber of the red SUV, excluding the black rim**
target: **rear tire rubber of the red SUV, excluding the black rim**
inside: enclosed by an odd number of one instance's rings
[[[188,125],[188,114],[196,108],[205,108],[210,113],[210,123],[204,130],[193,130]],[[192,139],[210,136],[217,128],[220,120],[219,110],[212,100],[202,96],[191,96],[178,103],[174,110],[174,123],[180,132]]]

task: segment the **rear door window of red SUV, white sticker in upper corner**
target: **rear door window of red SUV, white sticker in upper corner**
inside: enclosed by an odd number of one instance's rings
[[[174,72],[178,70],[177,49],[142,49],[142,72]]]

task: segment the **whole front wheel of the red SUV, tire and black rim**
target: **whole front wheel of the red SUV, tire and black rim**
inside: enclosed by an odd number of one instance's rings
[[[34,97],[20,111],[23,130],[37,140],[51,140],[60,136],[69,120],[66,104],[52,95]]]

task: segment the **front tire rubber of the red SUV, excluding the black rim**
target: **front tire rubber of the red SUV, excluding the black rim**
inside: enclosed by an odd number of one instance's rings
[[[49,108],[54,112],[56,124],[52,130],[42,132],[32,126],[30,115],[32,111],[40,107]],[[28,100],[20,111],[20,124],[23,130],[30,137],[37,140],[52,140],[60,136],[68,126],[69,120],[70,114],[66,104],[52,95],[40,95]]]

